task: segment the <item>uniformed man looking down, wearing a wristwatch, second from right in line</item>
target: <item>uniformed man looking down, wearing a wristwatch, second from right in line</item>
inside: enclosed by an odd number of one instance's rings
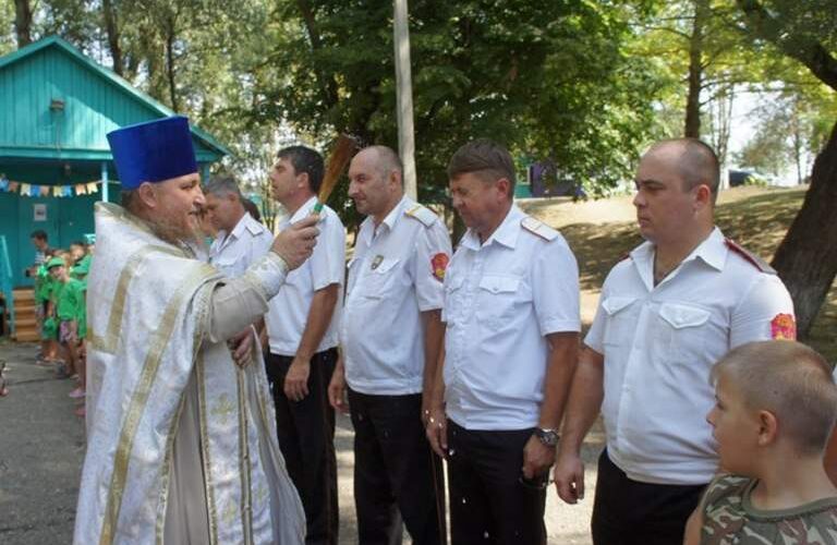
[[[444,385],[427,435],[448,460],[454,544],[546,543],[546,481],[575,367],[575,257],[512,204],[514,178],[509,153],[487,140],[448,164],[469,229],[445,278]]]

